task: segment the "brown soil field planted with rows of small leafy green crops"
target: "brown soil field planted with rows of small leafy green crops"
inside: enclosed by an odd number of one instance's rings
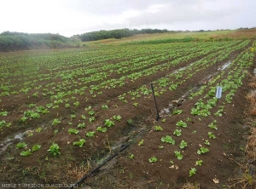
[[[0,184],[72,184],[130,144],[85,183],[227,186],[254,46],[234,40],[0,54]]]

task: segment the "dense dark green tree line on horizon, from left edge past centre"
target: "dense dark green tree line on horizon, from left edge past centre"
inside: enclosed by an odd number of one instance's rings
[[[23,33],[4,31],[0,33],[0,52],[27,50],[27,49],[56,49],[67,47],[79,47],[79,43],[96,41],[107,38],[131,37],[145,33],[177,32],[159,29],[129,30],[118,29],[110,31],[90,31],[73,37],[64,37],[52,33]]]

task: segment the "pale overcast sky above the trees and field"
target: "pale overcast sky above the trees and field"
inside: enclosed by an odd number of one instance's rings
[[[0,0],[0,32],[66,37],[119,28],[217,30],[256,26],[256,0]]]

